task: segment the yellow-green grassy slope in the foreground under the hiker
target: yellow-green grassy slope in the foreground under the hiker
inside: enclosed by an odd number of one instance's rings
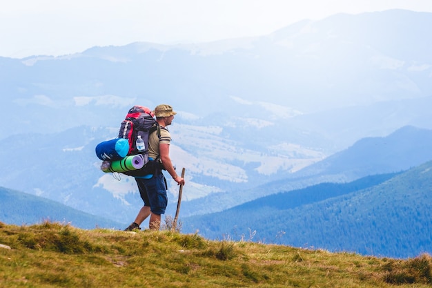
[[[167,231],[0,222],[0,287],[431,287],[432,258],[397,260]]]

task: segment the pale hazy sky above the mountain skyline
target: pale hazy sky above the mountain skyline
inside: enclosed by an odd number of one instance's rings
[[[66,55],[92,46],[267,35],[302,19],[387,9],[432,12],[431,0],[0,0],[0,56]]]

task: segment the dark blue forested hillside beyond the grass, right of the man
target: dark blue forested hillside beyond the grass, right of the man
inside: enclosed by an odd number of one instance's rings
[[[253,233],[256,241],[365,255],[431,253],[432,162],[388,176],[271,195],[184,218],[184,227],[209,238],[247,239]]]

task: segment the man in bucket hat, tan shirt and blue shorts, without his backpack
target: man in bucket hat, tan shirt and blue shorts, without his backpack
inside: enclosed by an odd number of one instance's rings
[[[153,113],[156,121],[160,126],[160,137],[157,132],[150,134],[148,139],[148,157],[151,160],[160,160],[163,168],[173,177],[178,185],[184,185],[184,179],[175,172],[173,162],[170,159],[170,141],[171,136],[166,128],[173,122],[174,115],[177,114],[173,108],[166,104],[156,106]],[[159,157],[158,157],[159,156]],[[166,195],[166,180],[161,169],[156,169],[155,173],[136,176],[139,194],[144,201],[144,206],[139,211],[137,218],[124,231],[140,229],[139,225],[150,215],[149,228],[159,230],[161,224],[161,214],[165,213],[168,197]]]

